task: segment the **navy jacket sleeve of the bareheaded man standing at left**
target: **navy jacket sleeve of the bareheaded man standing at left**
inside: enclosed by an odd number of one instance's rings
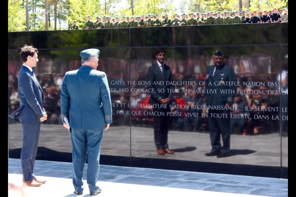
[[[31,109],[34,111],[36,116],[40,119],[45,114],[36,99],[32,80],[34,79],[32,79],[32,76],[29,73],[24,73],[20,78],[20,84],[27,103],[29,104]]]

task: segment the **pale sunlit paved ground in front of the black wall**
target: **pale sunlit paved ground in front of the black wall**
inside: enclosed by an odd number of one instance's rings
[[[87,165],[84,175],[86,169]],[[21,187],[28,196],[77,196],[72,193],[72,163],[37,160],[34,170],[35,175],[46,179],[47,183]],[[20,159],[8,159],[8,183],[21,186],[21,171]],[[287,179],[101,165],[98,180],[102,188],[98,196],[108,197],[288,196]],[[86,186],[82,196],[89,196],[88,193]],[[14,195],[9,193],[8,196]]]

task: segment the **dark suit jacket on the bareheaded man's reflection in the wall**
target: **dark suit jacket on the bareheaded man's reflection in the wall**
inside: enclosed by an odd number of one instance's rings
[[[158,100],[160,98],[170,98],[171,101],[174,99],[175,85],[173,84],[172,70],[166,64],[163,65],[164,75],[162,74],[157,62],[148,69],[148,88],[153,91],[150,96],[149,104],[158,104]]]

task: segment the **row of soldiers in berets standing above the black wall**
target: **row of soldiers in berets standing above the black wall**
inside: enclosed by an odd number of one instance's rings
[[[260,16],[256,15],[256,11],[252,14],[255,14],[252,16],[252,18],[249,19],[247,17],[250,15],[250,13],[247,13],[247,16],[245,16],[245,11],[241,12],[242,16],[238,15],[238,11],[232,12],[233,16],[230,16],[230,12],[224,12],[222,13],[218,11],[213,15],[213,11],[210,11],[207,14],[204,13],[196,13],[193,12],[188,17],[185,13],[182,14],[182,18],[178,18],[178,14],[174,14],[174,19],[171,20],[168,18],[168,14],[163,16],[162,19],[160,19],[159,14],[156,14],[155,18],[152,18],[151,14],[148,14],[145,18],[144,15],[139,18],[138,20],[135,20],[134,16],[131,18],[129,17],[122,17],[122,21],[120,21],[119,17],[115,18],[115,21],[113,22],[111,20],[111,17],[107,16],[104,17],[104,21],[102,21],[102,18],[97,16],[97,21],[92,22],[90,19],[90,15],[88,15],[88,20],[85,22],[83,29],[102,29],[102,28],[129,28],[129,27],[154,27],[154,26],[190,26],[190,25],[214,25],[214,24],[241,24],[241,23],[257,23],[260,22]],[[225,15],[223,17],[223,15]],[[216,16],[216,17],[215,17]],[[264,15],[263,15],[264,16]],[[127,19],[127,20],[126,20]],[[248,22],[245,22],[245,21]],[[76,24],[76,21],[73,21],[73,25],[71,26],[71,30],[77,30],[79,29],[79,26]]]

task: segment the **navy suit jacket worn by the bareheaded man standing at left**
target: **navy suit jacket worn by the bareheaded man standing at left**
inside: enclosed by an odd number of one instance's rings
[[[19,71],[18,85],[20,105],[9,117],[19,119],[23,124],[39,123],[44,116],[43,91],[37,78],[26,66],[22,66]]]

